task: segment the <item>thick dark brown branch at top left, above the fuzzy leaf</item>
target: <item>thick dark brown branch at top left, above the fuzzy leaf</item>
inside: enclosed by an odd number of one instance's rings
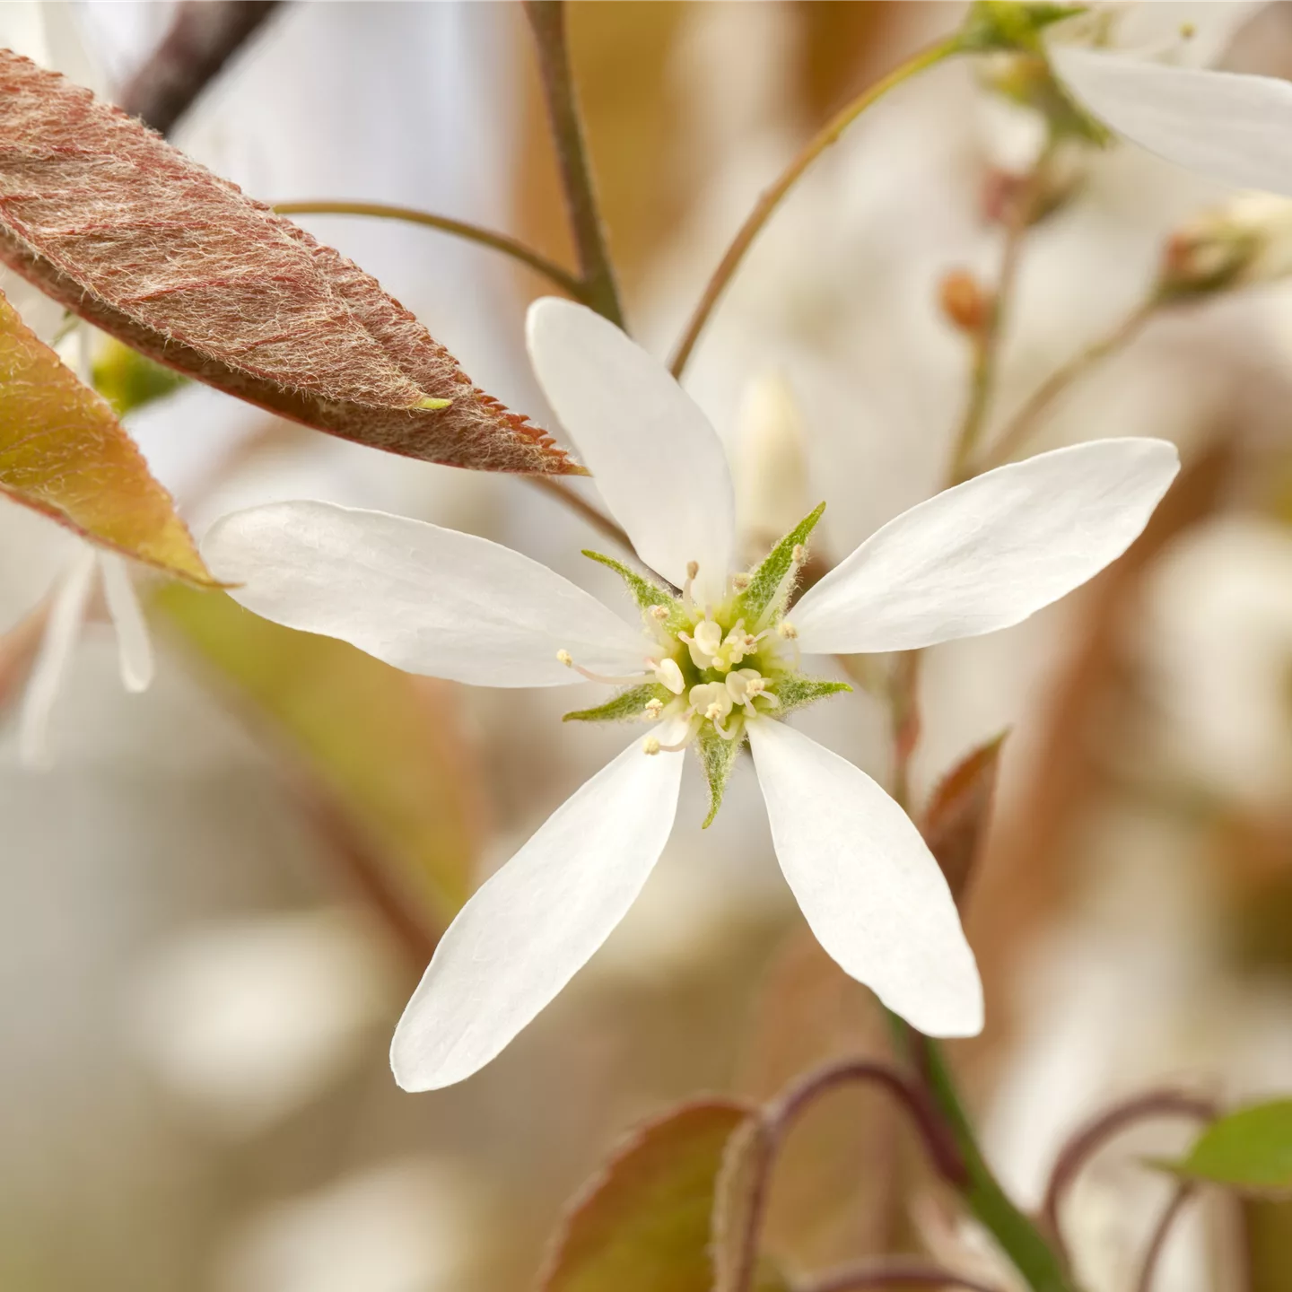
[[[118,103],[162,134],[251,39],[280,0],[183,0],[171,30],[130,78]]]

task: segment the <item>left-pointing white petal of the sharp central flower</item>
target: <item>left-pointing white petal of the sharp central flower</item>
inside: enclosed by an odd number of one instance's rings
[[[340,637],[410,673],[475,686],[562,686],[645,669],[649,643],[596,597],[518,552],[456,530],[329,503],[217,521],[202,544],[257,615]]]

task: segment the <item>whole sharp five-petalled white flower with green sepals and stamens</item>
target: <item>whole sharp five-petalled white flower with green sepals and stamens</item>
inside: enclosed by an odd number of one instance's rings
[[[580,716],[659,722],[453,921],[395,1032],[399,1084],[470,1076],[556,996],[663,851],[682,747],[699,749],[718,797],[744,736],[776,855],[822,946],[921,1031],[975,1034],[973,953],[919,831],[870,776],[780,721],[840,689],[805,677],[801,654],[908,650],[1019,623],[1125,550],[1178,468],[1173,446],[1080,444],[948,490],[884,526],[786,619],[820,509],[752,576],[733,572],[731,475],[677,382],[566,301],[531,307],[528,344],[637,554],[681,588],[674,596],[620,567],[645,629],[516,552],[381,513],[260,506],[217,522],[203,545],[216,576],[240,585],[234,596],[278,623],[482,686],[627,681],[630,691]]]

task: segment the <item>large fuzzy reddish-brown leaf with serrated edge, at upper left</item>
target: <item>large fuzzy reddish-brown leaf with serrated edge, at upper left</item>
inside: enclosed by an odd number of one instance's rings
[[[9,50],[0,260],[149,358],[318,430],[477,470],[579,470],[376,279]]]

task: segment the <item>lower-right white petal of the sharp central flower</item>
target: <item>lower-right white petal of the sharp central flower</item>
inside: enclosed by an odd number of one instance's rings
[[[820,944],[921,1032],[982,1031],[973,952],[907,814],[801,731],[770,718],[748,730],[780,868]]]

